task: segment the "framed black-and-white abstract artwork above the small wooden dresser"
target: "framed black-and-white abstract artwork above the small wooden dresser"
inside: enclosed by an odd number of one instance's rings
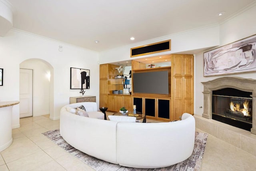
[[[90,89],[90,70],[70,68],[70,89]]]

